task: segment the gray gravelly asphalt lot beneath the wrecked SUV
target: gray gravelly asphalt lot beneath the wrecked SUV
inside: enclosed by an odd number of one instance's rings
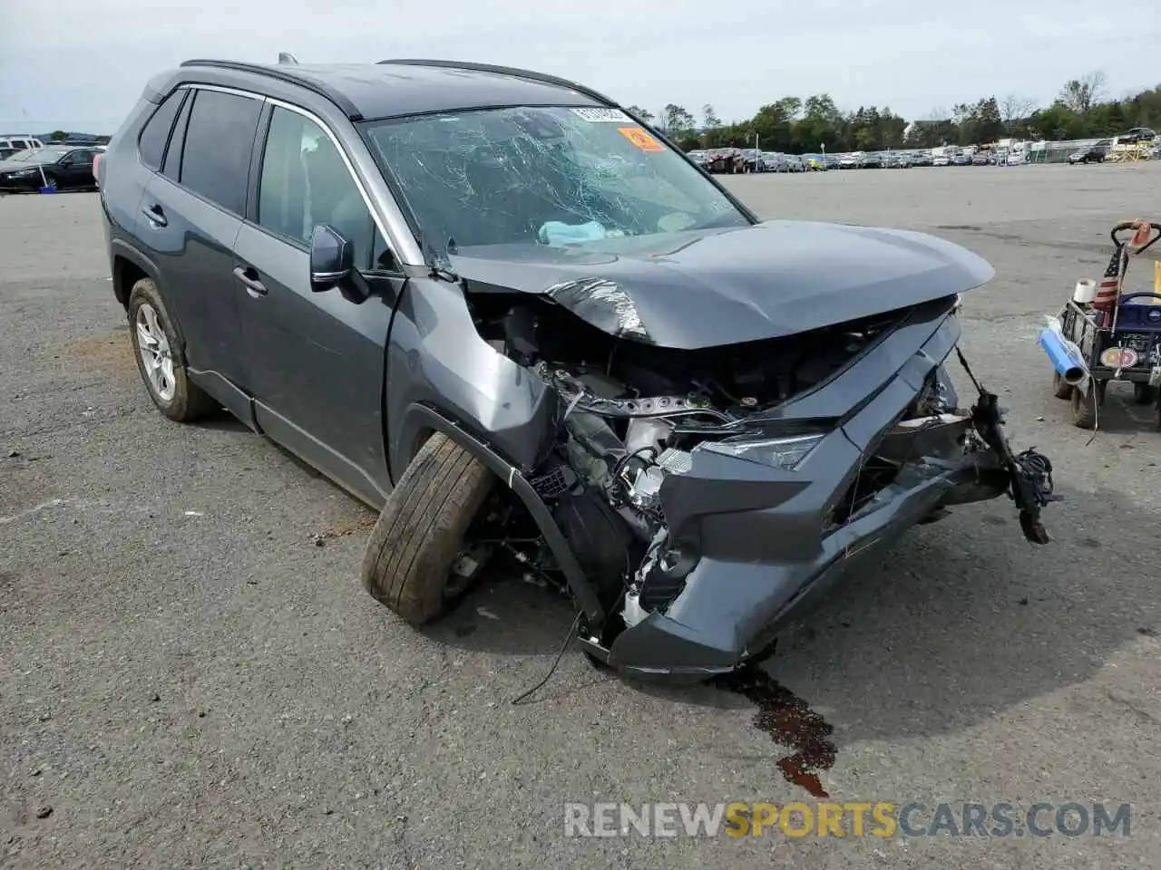
[[[565,839],[564,802],[813,798],[734,693],[630,686],[570,651],[512,705],[571,619],[542,589],[500,581],[425,633],[374,603],[369,512],[238,425],[153,409],[99,200],[77,194],[0,198],[0,865],[1161,865],[1161,434],[1110,390],[1087,443],[1036,346],[1111,223],[1161,217],[1161,164],[729,183],[765,216],[990,259],[965,350],[1067,496],[1043,549],[1008,502],[916,530],[771,661],[834,727],[823,786],[1132,802],[1130,838]]]

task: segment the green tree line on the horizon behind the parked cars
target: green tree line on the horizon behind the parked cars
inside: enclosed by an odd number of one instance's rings
[[[1005,137],[1060,142],[1116,136],[1134,126],[1161,128],[1161,85],[1110,97],[1104,73],[1090,72],[1066,82],[1048,106],[1018,95],[986,96],[975,103],[932,109],[909,123],[888,107],[860,106],[843,111],[830,94],[802,100],[784,96],[747,121],[723,123],[713,106],[700,117],[670,103],[659,113],[629,107],[686,151],[753,147],[763,151],[817,153],[980,145]]]

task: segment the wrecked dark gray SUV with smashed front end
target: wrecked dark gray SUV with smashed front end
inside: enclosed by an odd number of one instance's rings
[[[957,348],[987,262],[762,222],[576,82],[192,60],[99,175],[152,400],[381,510],[362,579],[411,624],[507,558],[599,662],[706,679],[951,505],[1007,496],[1048,541],[1051,465]]]

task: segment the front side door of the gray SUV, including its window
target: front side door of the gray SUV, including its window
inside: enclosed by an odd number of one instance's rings
[[[235,246],[255,419],[271,438],[378,505],[390,490],[384,345],[403,277],[337,139],[303,111],[268,111],[255,202]],[[355,287],[311,284],[319,224],[353,242]]]

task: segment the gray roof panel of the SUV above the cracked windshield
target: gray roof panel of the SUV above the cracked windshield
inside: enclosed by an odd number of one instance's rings
[[[442,60],[384,60],[378,64],[243,64],[187,60],[269,75],[327,96],[352,119],[499,106],[605,106],[592,90],[521,70]]]

